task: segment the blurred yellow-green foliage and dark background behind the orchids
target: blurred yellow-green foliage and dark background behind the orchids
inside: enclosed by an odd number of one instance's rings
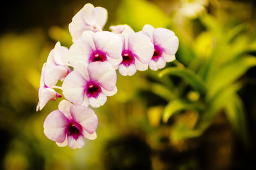
[[[40,71],[68,24],[92,3],[110,25],[145,24],[179,38],[159,71],[118,74],[118,93],[95,110],[98,138],[59,148],[36,112]],[[253,0],[6,1],[0,26],[0,169],[255,169],[256,3]]]

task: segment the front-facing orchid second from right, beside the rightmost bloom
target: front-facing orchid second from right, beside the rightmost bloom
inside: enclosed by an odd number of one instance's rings
[[[122,62],[119,64],[119,73],[123,76],[132,76],[139,71],[148,69],[148,62],[154,53],[154,45],[150,39],[140,32],[125,29],[119,34],[122,39]]]

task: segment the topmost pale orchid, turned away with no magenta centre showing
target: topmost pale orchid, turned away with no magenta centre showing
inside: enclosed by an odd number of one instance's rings
[[[85,4],[68,25],[73,41],[80,38],[83,31],[102,31],[102,27],[106,24],[107,18],[108,11],[105,8],[99,6],[94,7],[93,4]]]

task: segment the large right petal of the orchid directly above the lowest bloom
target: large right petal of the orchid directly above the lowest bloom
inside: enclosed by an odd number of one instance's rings
[[[97,81],[106,90],[113,90],[116,85],[116,71],[108,62],[88,64],[90,80]]]

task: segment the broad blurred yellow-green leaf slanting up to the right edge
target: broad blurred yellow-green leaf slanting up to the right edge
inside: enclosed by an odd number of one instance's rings
[[[207,99],[210,100],[221,89],[228,87],[231,83],[241,77],[250,67],[256,66],[255,57],[242,57],[232,60],[216,71],[209,81],[207,81]]]

